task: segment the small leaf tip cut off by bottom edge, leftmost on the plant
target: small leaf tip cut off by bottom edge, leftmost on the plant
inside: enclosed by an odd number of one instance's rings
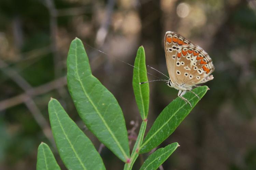
[[[37,170],[60,170],[51,149],[43,142],[38,147]]]

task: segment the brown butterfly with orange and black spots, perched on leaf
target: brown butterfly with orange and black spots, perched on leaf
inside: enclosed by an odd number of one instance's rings
[[[170,78],[160,71],[150,66],[148,67],[168,77],[168,81],[162,79],[155,81],[165,81],[169,87],[179,90],[178,96],[192,107],[191,103],[183,95],[190,91],[199,98],[191,90],[193,86],[213,79],[211,73],[215,68],[212,64],[212,59],[201,47],[191,43],[190,40],[178,33],[167,31],[164,43],[166,64]]]

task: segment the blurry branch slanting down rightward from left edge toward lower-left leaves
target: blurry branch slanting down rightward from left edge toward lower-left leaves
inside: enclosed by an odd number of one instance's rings
[[[24,96],[24,103],[28,107],[29,111],[32,113],[32,116],[34,117],[35,121],[37,121],[38,125],[41,127],[44,135],[47,137],[47,139],[52,143],[53,146],[55,146],[55,142],[53,140],[53,136],[51,133],[51,129],[49,127],[48,122],[43,117],[42,113],[40,112],[37,105],[34,103],[32,98],[29,96],[29,89],[32,89],[32,86],[23,78],[21,77],[15,70],[11,68],[3,68],[7,67],[8,65],[0,60],[0,69],[2,72],[4,72],[6,75],[8,75],[20,88],[22,88],[25,91]]]

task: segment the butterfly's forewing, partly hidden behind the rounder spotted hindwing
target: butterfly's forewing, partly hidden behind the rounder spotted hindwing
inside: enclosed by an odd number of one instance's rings
[[[174,72],[175,63],[177,60],[176,54],[177,51],[181,49],[183,45],[190,44],[189,40],[186,40],[183,36],[167,31],[165,34],[165,57],[166,64],[170,79],[172,82],[176,82],[176,75]]]

